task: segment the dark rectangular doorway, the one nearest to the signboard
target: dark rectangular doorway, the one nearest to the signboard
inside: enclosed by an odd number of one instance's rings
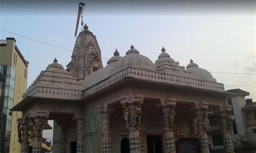
[[[147,153],[162,153],[161,136],[147,136]]]

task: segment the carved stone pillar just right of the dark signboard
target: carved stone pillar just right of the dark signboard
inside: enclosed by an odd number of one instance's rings
[[[198,125],[198,138],[200,141],[200,149],[203,153],[210,153],[209,150],[209,143],[208,143],[208,137],[207,137],[207,126],[205,126],[205,115],[206,110],[208,109],[208,104],[203,102],[199,103],[196,110],[196,116],[197,116],[197,125]]]

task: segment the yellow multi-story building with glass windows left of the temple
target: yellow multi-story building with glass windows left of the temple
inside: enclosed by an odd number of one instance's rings
[[[10,112],[12,106],[22,100],[28,82],[28,65],[16,46],[15,38],[0,40],[0,152],[16,152],[18,142],[17,118],[21,112]]]

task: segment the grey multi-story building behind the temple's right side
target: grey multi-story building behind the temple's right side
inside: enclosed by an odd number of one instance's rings
[[[245,96],[250,95],[241,89],[229,89],[226,92],[234,93],[236,96],[227,99],[227,106],[232,108],[232,136],[235,148],[243,147],[242,142],[256,141],[256,102],[246,102]],[[219,132],[221,127],[221,117],[209,113],[210,130],[208,140],[213,152],[224,152],[223,133]],[[255,144],[254,144],[255,145]]]

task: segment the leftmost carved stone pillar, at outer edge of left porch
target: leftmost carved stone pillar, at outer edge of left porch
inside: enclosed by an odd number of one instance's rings
[[[29,152],[29,126],[28,121],[25,121],[22,118],[17,119],[19,125],[22,125],[22,140],[21,142],[21,152],[28,153]]]

